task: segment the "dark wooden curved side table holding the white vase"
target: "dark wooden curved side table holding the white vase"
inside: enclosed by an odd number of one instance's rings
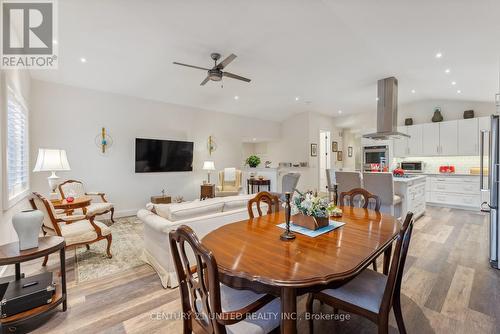
[[[56,282],[56,293],[52,297],[52,302],[46,305],[35,307],[31,310],[14,314],[10,317],[0,318],[0,330],[7,328],[9,331],[16,331],[16,327],[30,320],[36,320],[43,314],[55,309],[62,303],[63,312],[66,311],[66,253],[64,252],[64,238],[57,236],[38,238],[38,247],[26,250],[19,250],[19,243],[12,242],[0,246],[0,266],[15,265],[16,280],[21,279],[21,263],[33,259],[45,257],[46,255],[59,252],[61,269],[60,280],[54,278]],[[57,276],[57,275],[54,275]],[[59,284],[58,284],[59,283]]]

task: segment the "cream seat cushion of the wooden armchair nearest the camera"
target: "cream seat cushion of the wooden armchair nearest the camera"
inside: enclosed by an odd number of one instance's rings
[[[94,220],[94,223],[99,226],[103,236],[107,236],[111,233],[111,229],[106,226],[106,224],[96,220]],[[97,232],[87,219],[79,220],[70,224],[62,223],[59,224],[59,228],[61,229],[61,235],[64,237],[64,241],[66,241],[67,246],[87,241],[94,241],[97,238]],[[46,232],[49,235],[55,234],[54,231],[50,229],[47,229]]]

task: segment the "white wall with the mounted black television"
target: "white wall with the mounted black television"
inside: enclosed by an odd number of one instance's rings
[[[42,81],[33,81],[31,98],[32,165],[38,148],[66,149],[72,170],[59,176],[82,180],[88,190],[106,192],[118,214],[135,214],[163,188],[172,196],[197,198],[206,179],[201,166],[209,158],[209,135],[217,144],[211,158],[217,169],[242,165],[243,138],[280,136],[275,122]],[[106,155],[95,144],[103,126],[114,140]],[[193,141],[194,171],[136,174],[136,137]],[[47,176],[33,173],[33,190],[48,193]]]

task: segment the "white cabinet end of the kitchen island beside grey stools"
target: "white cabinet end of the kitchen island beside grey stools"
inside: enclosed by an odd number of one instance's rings
[[[413,212],[417,219],[425,213],[425,175],[394,177],[394,193],[401,196],[401,213]]]

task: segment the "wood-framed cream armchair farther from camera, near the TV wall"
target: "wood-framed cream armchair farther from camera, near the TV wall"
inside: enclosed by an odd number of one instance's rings
[[[115,208],[113,203],[110,203],[106,199],[106,194],[101,192],[87,192],[81,181],[77,180],[67,180],[58,186],[61,198],[67,197],[82,197],[91,196],[97,197],[101,202],[92,202],[88,207],[83,209],[83,214],[88,214],[90,216],[100,216],[111,212],[111,221],[114,223],[113,215],[115,213]]]

